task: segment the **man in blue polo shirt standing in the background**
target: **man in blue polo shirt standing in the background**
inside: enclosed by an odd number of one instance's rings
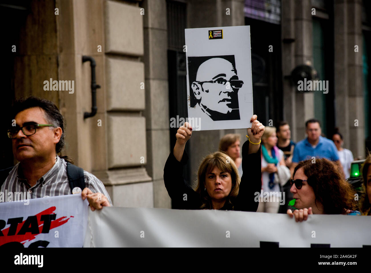
[[[334,142],[321,136],[322,131],[319,121],[308,120],[305,127],[308,137],[296,143],[290,168],[291,173],[300,161],[311,159],[313,156],[335,161],[341,167]]]

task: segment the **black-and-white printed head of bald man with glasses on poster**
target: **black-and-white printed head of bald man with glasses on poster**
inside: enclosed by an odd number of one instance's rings
[[[198,67],[196,81],[191,84],[197,104],[190,116],[239,120],[238,90],[242,85],[232,63],[223,58],[208,59]]]

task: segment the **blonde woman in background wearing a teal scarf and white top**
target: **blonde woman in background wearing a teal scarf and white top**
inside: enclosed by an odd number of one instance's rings
[[[262,192],[257,212],[277,213],[279,209],[277,197],[280,195],[280,187],[275,176],[278,175],[277,167],[286,165],[282,150],[276,146],[277,141],[276,128],[266,126],[262,136]]]

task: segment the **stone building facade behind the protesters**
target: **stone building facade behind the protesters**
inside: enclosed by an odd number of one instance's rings
[[[7,109],[15,98],[27,95],[54,101],[66,120],[63,153],[104,182],[115,206],[171,208],[163,168],[175,139],[170,118],[180,108],[173,109],[172,96],[178,90],[174,89],[174,78],[169,78],[173,75],[170,63],[174,61],[168,57],[169,50],[176,52],[184,64],[179,48],[184,27],[245,25],[247,2],[32,0],[25,6],[22,1],[14,1],[13,6],[20,7],[17,11],[0,4],[2,13],[18,20],[6,32],[9,39],[4,46],[9,49],[16,45],[17,51],[6,59],[13,67],[3,74],[11,79],[5,79],[11,92],[0,106]],[[297,92],[285,76],[297,65],[313,63],[311,10],[321,1],[256,2],[265,7],[276,5],[281,16],[277,25],[281,38],[276,40],[280,50],[274,51],[280,77],[276,78],[276,89],[272,89],[281,103],[260,120],[265,125],[269,119],[289,121],[292,137],[298,141],[305,137],[305,120],[315,116],[315,94]],[[366,138],[362,5],[361,0],[332,2],[334,43],[328,45],[334,46],[335,117],[334,124],[328,126],[340,128],[345,147],[355,156],[364,156]],[[321,16],[321,12],[317,14]],[[180,37],[178,42],[170,39],[174,35]],[[354,45],[359,45],[359,52],[354,52]],[[96,93],[97,114],[85,119],[84,112],[92,106],[91,67],[89,62],[82,62],[83,55],[95,59],[96,83],[101,86]],[[181,64],[177,65],[179,79],[184,79]],[[43,81],[50,78],[75,81],[75,92],[43,90]],[[258,96],[256,92],[254,96]],[[255,105],[258,112],[264,111],[263,106]],[[358,127],[354,126],[355,119],[359,120]],[[193,135],[187,148],[190,163],[186,176],[190,183],[196,178],[200,159],[217,150],[220,137],[232,132],[245,141],[246,129],[199,131]],[[13,163],[9,159],[11,150],[4,149],[1,156],[4,165]]]

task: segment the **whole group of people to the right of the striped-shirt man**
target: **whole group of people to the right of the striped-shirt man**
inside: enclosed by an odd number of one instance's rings
[[[183,179],[188,160],[184,147],[192,128],[185,123],[178,129],[164,167],[173,208],[284,212],[296,221],[306,220],[309,214],[371,215],[371,155],[362,168],[363,196],[358,200],[347,181],[354,158],[342,147],[338,131],[332,140],[327,139],[322,136],[321,123],[310,119],[305,123],[307,137],[295,143],[285,121],[266,127],[254,115],[251,122],[242,152],[240,135],[227,134],[220,140],[219,151],[203,159],[196,189]],[[258,202],[254,199],[257,192]],[[267,201],[261,195],[266,192]],[[288,194],[286,202],[271,198],[282,193]],[[288,209],[292,198],[294,205]]]

